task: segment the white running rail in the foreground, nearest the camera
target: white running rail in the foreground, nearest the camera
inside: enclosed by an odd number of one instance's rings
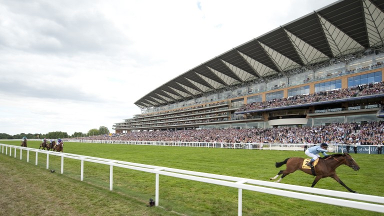
[[[84,161],[94,162],[109,165],[109,190],[113,189],[113,167],[122,167],[133,170],[139,170],[155,174],[155,205],[158,206],[158,196],[159,196],[159,175],[172,176],[177,178],[183,178],[188,180],[200,181],[205,183],[217,184],[222,186],[238,188],[238,215],[242,215],[242,189],[264,192],[274,195],[286,196],[297,199],[304,200],[316,200],[316,202],[322,202],[326,204],[339,205],[344,207],[352,207],[363,210],[382,212],[384,213],[384,205],[382,204],[373,204],[368,202],[375,203],[384,203],[384,197],[365,195],[365,194],[356,194],[343,191],[327,190],[320,188],[312,188],[305,186],[297,186],[291,184],[276,183],[270,181],[255,180],[249,178],[233,177],[227,175],[218,175],[210,174],[204,172],[188,171],[182,169],[174,169],[162,166],[146,165],[140,163],[132,163],[120,160],[105,159],[99,157],[91,157],[85,155],[63,153],[63,152],[54,152],[47,150],[40,150],[36,148],[21,147],[15,145],[8,145],[0,143],[0,150],[2,154],[12,156],[12,151],[14,158],[16,158],[16,152],[19,150],[19,158],[22,159],[23,151],[26,151],[26,161],[29,162],[29,152],[35,152],[35,165],[37,165],[38,153],[46,154],[46,168],[49,168],[49,156],[58,156],[61,157],[61,170],[60,173],[64,173],[64,157],[80,160],[80,180],[83,180],[84,173]],[[269,188],[274,187],[274,188]],[[279,188],[279,189],[276,189]],[[287,191],[282,189],[294,190]],[[305,193],[302,193],[305,192]],[[313,195],[307,193],[314,193],[320,195]],[[327,196],[339,197],[327,197]],[[349,198],[360,201],[346,200],[340,198]]]

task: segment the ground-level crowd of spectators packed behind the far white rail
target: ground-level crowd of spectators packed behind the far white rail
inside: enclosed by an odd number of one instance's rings
[[[140,131],[72,139],[137,140],[231,143],[308,143],[316,144],[378,144],[384,141],[384,121],[360,123],[331,123],[313,127],[275,127],[246,129],[188,129]]]

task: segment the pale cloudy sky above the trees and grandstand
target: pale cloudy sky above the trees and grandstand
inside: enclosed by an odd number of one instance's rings
[[[86,133],[151,90],[335,0],[0,0],[0,133]]]

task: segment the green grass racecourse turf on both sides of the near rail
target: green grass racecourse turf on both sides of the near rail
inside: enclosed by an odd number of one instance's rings
[[[20,141],[0,143],[19,145]],[[39,141],[28,141],[38,148]],[[94,144],[65,142],[64,152],[129,162],[179,168],[221,175],[269,181],[285,165],[276,161],[305,157],[303,151],[222,149],[152,145]],[[44,156],[41,156],[44,155]],[[336,173],[351,189],[362,194],[384,195],[382,154],[351,154],[359,171],[342,165]],[[80,181],[80,161],[49,157],[19,150],[9,156],[0,152],[0,215],[237,215],[237,188],[160,175],[159,207],[149,207],[154,199],[153,173],[113,168],[113,191],[109,191],[109,166],[84,161],[84,180]],[[310,186],[313,176],[296,171],[281,183]],[[315,187],[347,191],[332,178],[321,179]],[[316,200],[313,200],[316,201]],[[242,190],[242,215],[383,215],[331,204]]]

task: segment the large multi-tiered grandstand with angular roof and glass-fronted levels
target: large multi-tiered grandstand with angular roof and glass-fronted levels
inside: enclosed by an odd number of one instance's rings
[[[116,133],[382,120],[384,0],[339,0],[147,93]]]

